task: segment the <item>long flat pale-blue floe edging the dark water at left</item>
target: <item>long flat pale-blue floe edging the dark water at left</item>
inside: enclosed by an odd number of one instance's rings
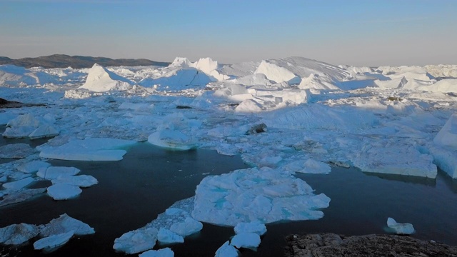
[[[116,138],[74,139],[62,146],[39,146],[40,156],[71,161],[119,161],[127,151],[119,148],[136,141]]]

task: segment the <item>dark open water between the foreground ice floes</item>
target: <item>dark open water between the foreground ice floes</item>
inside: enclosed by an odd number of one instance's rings
[[[77,218],[96,233],[72,238],[46,256],[125,256],[112,250],[114,238],[140,228],[175,201],[194,195],[206,175],[246,168],[237,156],[215,151],[164,151],[149,143],[129,149],[124,160],[112,162],[49,161],[53,166],[75,166],[99,184],[84,188],[81,196],[53,201],[42,196],[34,201],[0,208],[0,227],[11,223],[47,223],[62,213]],[[318,221],[267,225],[258,251],[242,250],[242,256],[282,256],[284,237],[290,233],[333,232],[349,235],[385,233],[387,218],[413,223],[413,237],[457,245],[457,181],[438,173],[436,180],[401,176],[372,176],[356,168],[332,168],[328,175],[298,174],[316,193],[331,198],[325,216]],[[186,237],[185,243],[169,247],[175,256],[214,256],[216,249],[233,236],[233,228],[204,224]],[[156,249],[164,246],[156,246]],[[31,243],[17,249],[17,256],[44,256]]]

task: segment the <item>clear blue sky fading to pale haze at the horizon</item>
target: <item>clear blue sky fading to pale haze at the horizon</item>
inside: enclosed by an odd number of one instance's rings
[[[0,0],[0,56],[457,64],[454,0]]]

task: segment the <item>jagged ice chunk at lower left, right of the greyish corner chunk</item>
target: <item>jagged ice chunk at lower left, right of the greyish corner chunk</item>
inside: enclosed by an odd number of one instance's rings
[[[84,236],[95,233],[94,228],[91,228],[88,224],[71,218],[66,213],[54,218],[46,225],[40,226],[40,236],[52,236],[61,233],[67,233],[73,231],[76,236]]]

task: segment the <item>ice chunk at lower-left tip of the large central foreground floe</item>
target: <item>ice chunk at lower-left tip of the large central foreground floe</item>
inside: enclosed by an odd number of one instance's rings
[[[146,228],[124,233],[114,240],[114,250],[133,254],[154,248],[157,240],[157,229]]]

